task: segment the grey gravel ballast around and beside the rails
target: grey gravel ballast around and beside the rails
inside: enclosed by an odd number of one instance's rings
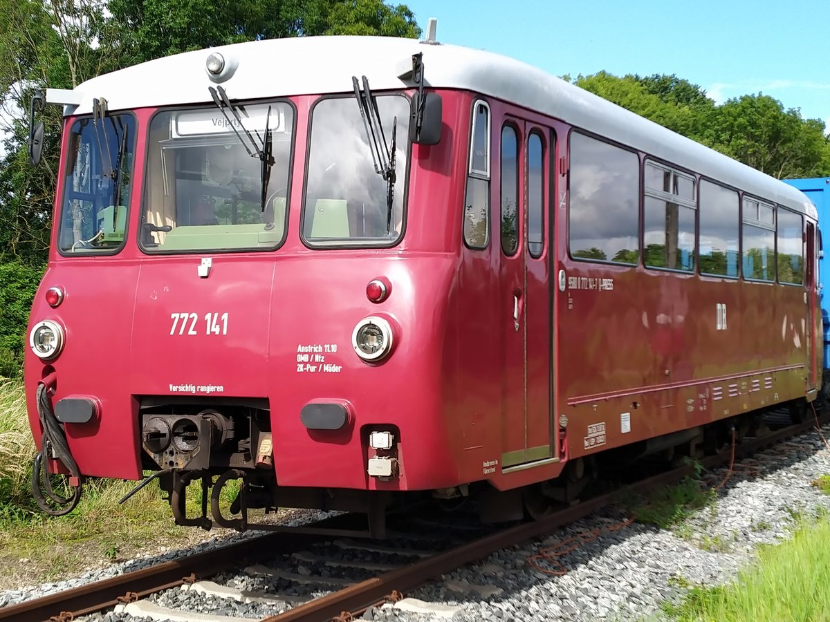
[[[830,426],[825,426],[824,435],[830,435]],[[715,486],[725,474],[726,469],[716,470],[706,481]],[[664,601],[680,600],[692,585],[713,586],[732,580],[741,567],[752,561],[760,544],[781,542],[792,534],[800,519],[830,512],[830,497],[811,485],[824,474],[830,474],[830,449],[813,431],[739,461],[713,503],[671,530],[636,522],[610,530],[626,517],[620,510],[609,509],[574,522],[547,538],[496,552],[408,594],[427,603],[455,607],[454,613],[379,608],[367,612],[364,618],[380,622],[660,620]],[[314,518],[306,520],[310,519]],[[546,547],[593,530],[598,530],[595,539],[559,558],[566,574],[544,574],[528,563],[531,556]],[[216,544],[206,543],[196,551],[212,546]],[[172,552],[153,560],[134,560],[72,581],[7,591],[0,594],[0,606],[168,561],[181,554]],[[250,576],[229,573],[222,582],[242,587],[252,585],[251,581]],[[175,603],[184,610],[206,613],[224,611],[249,617],[268,613],[258,605],[231,604],[183,590],[155,598],[159,604]],[[88,616],[87,620],[139,619],[110,613]]]

